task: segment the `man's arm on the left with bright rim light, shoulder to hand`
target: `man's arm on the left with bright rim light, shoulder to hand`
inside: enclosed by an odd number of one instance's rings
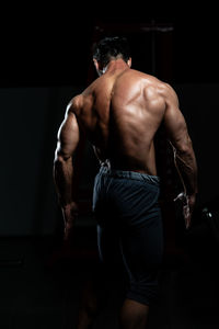
[[[54,181],[59,205],[65,220],[65,239],[69,238],[77,217],[78,207],[73,195],[73,156],[76,154],[80,132],[72,103],[67,107],[65,120],[58,131],[57,148],[54,160]]]

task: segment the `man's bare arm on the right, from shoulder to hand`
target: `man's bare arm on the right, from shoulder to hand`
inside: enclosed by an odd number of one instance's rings
[[[188,197],[189,211],[193,212],[197,193],[197,163],[193,144],[188,135],[185,118],[178,107],[174,90],[166,86],[164,126],[174,149],[175,164],[180,171]],[[185,218],[186,219],[186,218]],[[189,226],[191,215],[186,220]]]

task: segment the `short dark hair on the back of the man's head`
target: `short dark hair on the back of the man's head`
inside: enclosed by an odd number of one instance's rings
[[[126,37],[104,37],[93,49],[93,58],[103,66],[106,66],[111,59],[119,57],[125,61],[128,61],[130,57],[129,44]]]

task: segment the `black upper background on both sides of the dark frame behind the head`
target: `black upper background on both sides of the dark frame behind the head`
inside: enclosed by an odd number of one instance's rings
[[[218,20],[210,3],[145,2],[114,7],[104,2],[22,4],[1,11],[1,86],[83,84],[94,26],[104,23],[164,23],[174,27],[173,75],[176,82],[217,82]],[[136,44],[138,46],[139,43]],[[147,44],[142,47],[150,52]],[[137,54],[139,49],[132,49]]]

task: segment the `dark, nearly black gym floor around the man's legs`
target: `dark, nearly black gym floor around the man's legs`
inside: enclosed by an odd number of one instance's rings
[[[61,252],[55,237],[0,238],[0,328],[76,328],[79,291],[96,264],[94,239],[93,228],[80,228],[77,248]],[[149,328],[219,328],[219,246],[204,228],[184,237],[180,250],[165,254]],[[94,329],[117,328],[120,293],[110,291]]]

